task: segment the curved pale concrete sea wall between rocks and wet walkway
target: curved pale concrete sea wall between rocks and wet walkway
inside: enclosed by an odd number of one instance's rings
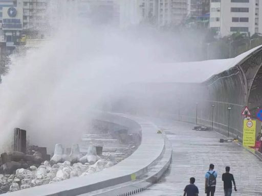
[[[156,127],[151,122],[147,122],[143,119],[134,118],[127,115],[112,113],[103,113],[103,115],[104,117],[110,116],[107,120],[112,119],[114,123],[121,122],[122,124],[128,125],[128,127],[131,124],[135,127],[140,126],[140,131],[143,137],[137,151],[135,151],[132,155],[130,155],[128,158],[124,159],[117,165],[100,171],[99,173],[6,193],[6,195],[80,195],[83,193],[115,186],[125,182],[137,182],[136,179],[139,179],[143,175],[147,174],[152,166],[157,165],[161,160],[163,160],[163,158],[165,157],[164,152],[166,149],[165,135],[157,133],[159,131],[158,127]],[[104,120],[104,117],[101,118],[103,118]],[[169,154],[169,160],[170,159],[171,153]],[[166,163],[161,169],[159,169],[160,171],[157,173],[157,175],[162,175],[164,170],[167,168],[167,165],[169,164]],[[158,176],[156,176],[155,179],[159,179]],[[151,177],[151,179],[152,178],[153,177]],[[149,186],[149,184],[147,186]],[[145,187],[141,188],[141,190],[142,189],[145,189]]]

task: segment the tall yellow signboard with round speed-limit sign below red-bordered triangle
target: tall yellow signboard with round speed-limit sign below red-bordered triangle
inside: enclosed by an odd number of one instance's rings
[[[243,126],[243,146],[253,147],[256,141],[256,121],[244,120]]]

